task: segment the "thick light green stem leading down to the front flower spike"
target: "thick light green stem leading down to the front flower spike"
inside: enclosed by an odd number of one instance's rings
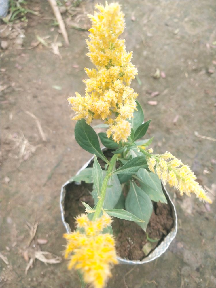
[[[113,157],[111,158],[110,162],[109,162],[109,168],[107,169],[107,174],[106,174],[106,176],[105,176],[105,178],[103,180],[103,184],[102,184],[102,187],[101,187],[101,198],[97,202],[95,213],[94,213],[94,216],[93,216],[93,219],[92,219],[93,221],[96,218],[98,218],[100,213],[101,213],[103,202],[104,202],[104,199],[105,199],[105,196],[106,196],[107,183],[109,181],[109,178],[111,177],[111,173],[113,171],[113,167],[115,165],[116,159],[117,159],[117,154],[114,154]]]

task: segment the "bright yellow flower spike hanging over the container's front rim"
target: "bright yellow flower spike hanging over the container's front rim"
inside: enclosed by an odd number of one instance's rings
[[[69,257],[68,269],[80,269],[84,281],[94,288],[105,286],[111,276],[111,266],[118,263],[113,236],[101,233],[111,222],[108,215],[90,221],[86,214],[81,214],[76,218],[76,225],[84,228],[85,232],[78,230],[64,234],[67,239],[65,258]]]

